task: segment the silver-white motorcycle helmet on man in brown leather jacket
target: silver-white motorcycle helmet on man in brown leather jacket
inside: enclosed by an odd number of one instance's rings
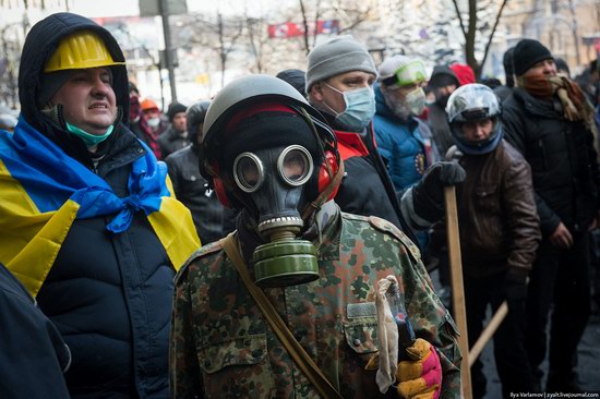
[[[448,98],[446,113],[456,146],[466,154],[479,155],[493,150],[502,140],[502,107],[494,92],[482,84],[471,83],[458,87]],[[482,141],[465,138],[464,122],[491,119],[492,132]]]

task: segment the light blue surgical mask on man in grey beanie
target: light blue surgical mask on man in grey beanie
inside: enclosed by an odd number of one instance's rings
[[[351,132],[361,132],[375,114],[375,94],[373,87],[369,86],[356,90],[340,92],[327,83],[325,85],[332,90],[341,94],[346,102],[346,109],[337,113],[335,120]],[[327,106],[327,108],[329,107]],[[333,111],[333,109],[331,110]]]

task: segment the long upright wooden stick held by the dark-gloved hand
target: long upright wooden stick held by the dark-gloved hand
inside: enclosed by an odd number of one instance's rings
[[[456,192],[454,185],[444,188],[446,204],[446,232],[448,239],[448,258],[452,282],[452,300],[454,319],[460,336],[458,347],[463,352],[460,376],[465,399],[472,399],[471,368],[469,366],[469,337],[467,336],[467,312],[465,310],[465,289],[463,285],[463,262],[460,259],[460,238],[458,234],[458,213],[456,209]]]

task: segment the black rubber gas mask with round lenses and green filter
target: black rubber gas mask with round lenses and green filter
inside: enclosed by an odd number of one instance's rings
[[[299,240],[308,204],[304,185],[313,174],[311,154],[300,145],[244,152],[233,161],[233,180],[251,203],[259,234],[266,244],[254,250],[260,287],[287,287],[319,278],[316,249]]]

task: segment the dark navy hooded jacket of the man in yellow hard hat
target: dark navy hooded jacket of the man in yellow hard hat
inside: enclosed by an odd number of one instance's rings
[[[104,178],[119,196],[129,194],[131,164],[145,154],[121,122],[92,157],[83,141],[69,134],[60,118],[37,109],[40,71],[61,37],[91,29],[100,35],[115,61],[123,55],[103,27],[60,13],[36,24],[21,60],[22,114],[68,155]],[[127,71],[111,68],[120,114],[128,116]],[[37,300],[71,348],[65,374],[73,398],[167,398],[172,265],[145,214],[134,215],[119,234],[106,230],[111,217],[76,219]]]

